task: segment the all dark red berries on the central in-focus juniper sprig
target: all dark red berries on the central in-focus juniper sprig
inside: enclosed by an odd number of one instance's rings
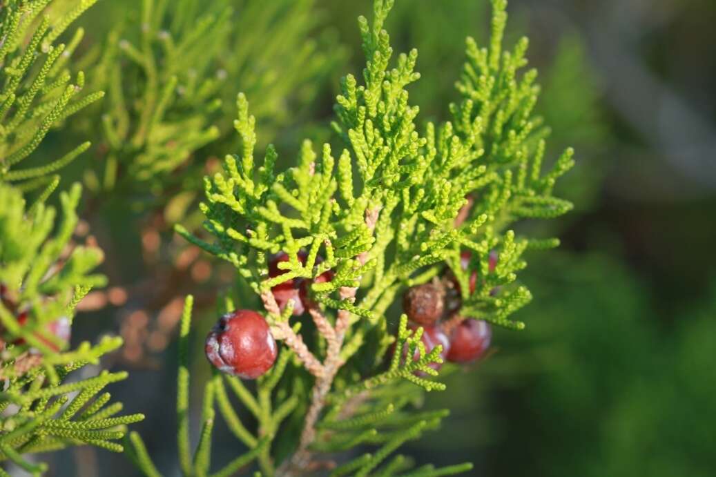
[[[297,258],[306,264],[305,251],[299,251]],[[461,265],[467,270],[470,262],[469,252],[461,255]],[[280,252],[269,261],[269,277],[275,278],[286,273],[281,262],[289,261],[289,255]],[[323,259],[316,257],[316,264]],[[490,255],[490,271],[495,269],[496,254]],[[304,314],[311,306],[309,286],[311,283],[325,283],[334,277],[332,270],[325,271],[313,280],[294,278],[271,288],[276,303],[283,311],[293,300],[293,314]],[[470,292],[477,286],[477,271],[470,274]],[[472,362],[478,360],[490,346],[492,331],[490,325],[482,320],[463,318],[457,315],[459,302],[455,291],[459,284],[454,276],[444,281],[412,286],[403,297],[403,309],[410,319],[410,328],[422,327],[422,343],[425,351],[432,351],[438,344],[442,346],[440,357],[451,362]],[[271,335],[266,319],[248,309],[239,309],[223,315],[211,329],[205,342],[206,357],[221,372],[256,379],[265,374],[276,361],[276,340]],[[417,350],[416,350],[417,353]],[[417,355],[414,357],[417,360]],[[440,365],[430,365],[439,369]]]

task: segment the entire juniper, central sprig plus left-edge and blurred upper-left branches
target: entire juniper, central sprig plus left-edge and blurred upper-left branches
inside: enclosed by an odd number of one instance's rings
[[[67,45],[55,42],[95,1],[11,0],[0,10],[0,459],[38,475],[46,466],[34,463],[30,453],[83,443],[122,451],[116,440],[127,424],[143,418],[115,417],[122,405],[107,405],[110,395],[100,394],[125,373],[87,377],[84,367],[120,347],[121,339],[69,350],[67,332],[77,304],[92,287],[105,284],[104,276],[92,273],[102,252],[92,244],[79,246],[72,237],[78,185],[59,195],[63,221],[57,226],[55,209],[46,201],[57,186],[52,173],[89,143],[37,168],[14,166],[50,127],[107,89],[101,121],[107,161],[102,178],[88,172],[86,182],[99,191],[126,180],[122,185],[132,193],[146,197],[148,191],[150,203],[164,206],[175,191],[192,194],[199,182],[198,167],[187,167],[191,156],[208,153],[205,146],[218,139],[216,147],[229,147],[221,112],[228,90],[223,85],[231,82],[260,107],[251,115],[246,95],[238,95],[233,125],[241,153],[228,155],[223,169],[204,179],[206,201],[198,208],[205,233],[176,230],[231,264],[236,289],[256,297],[252,302],[241,293],[239,299],[228,294],[220,301],[221,313],[260,302],[271,334],[283,345],[256,387],[215,370],[204,387],[203,423],[192,452],[193,298],[186,299],[177,395],[181,471],[230,476],[253,461],[266,476],[469,471],[469,463],[415,468],[410,458],[392,455],[448,414],[420,409],[423,392],[445,389],[435,379],[442,347],[427,347],[427,329],[409,325],[392,305],[408,287],[443,284],[450,277],[459,296],[445,327],[475,317],[522,329],[513,314],[531,293],[518,281],[518,271],[531,249],[558,245],[556,238],[516,231],[525,219],[570,210],[571,203],[554,196],[553,188],[574,162],[566,150],[543,167],[548,129],[534,113],[536,72],[525,70],[526,39],[503,49],[505,1],[492,2],[488,47],[468,39],[450,120],[422,124],[407,92],[420,78],[417,52],[400,54],[392,63],[384,22],[393,0],[374,0],[373,21],[359,19],[366,67],[361,78],[342,79],[337,97],[332,130],[340,146],[326,143],[316,152],[306,140],[296,165],[281,172],[274,146],[266,148],[263,161],[254,158],[256,125],[269,123],[260,125],[271,129],[295,119],[293,100],[306,102],[324,77],[329,56],[315,44],[299,54],[281,50],[283,44],[303,42],[314,27],[311,1],[246,0],[241,3],[246,15],[237,20],[228,0],[175,5],[142,0],[139,22],[120,24],[105,46],[85,55],[86,66],[98,64],[85,87],[81,68],[67,63],[82,29]],[[263,41],[261,47],[234,37],[234,21],[262,32],[251,37]],[[256,95],[267,100],[256,101]],[[19,181],[24,182],[11,185]],[[30,205],[22,193],[42,186]],[[276,261],[277,254],[286,260]],[[279,303],[274,291],[289,283],[304,288]],[[299,302],[307,314],[292,318]],[[244,412],[253,415],[255,426],[242,422]],[[248,450],[211,473],[217,413]],[[142,473],[160,475],[137,433],[125,443]],[[358,447],[369,452],[341,454]]]

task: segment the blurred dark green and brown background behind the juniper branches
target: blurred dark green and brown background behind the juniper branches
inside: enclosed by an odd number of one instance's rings
[[[134,3],[100,1],[79,20],[84,42],[100,41]],[[326,137],[338,79],[364,61],[355,19],[370,4],[316,2],[333,38],[326,47],[342,53],[308,119],[260,137],[276,143],[284,160],[295,157],[304,135]],[[511,0],[509,13],[508,39],[531,39],[528,56],[543,85],[538,108],[553,127],[551,152],[576,148],[577,166],[560,186],[576,210],[543,226],[563,246],[535,254],[522,276],[535,297],[519,312],[526,330],[497,330],[488,360],[450,374],[448,390],[425,406],[450,407],[452,415],[404,452],[420,462],[473,461],[476,476],[713,476],[716,3]],[[397,51],[420,52],[422,79],[411,101],[423,120],[447,116],[464,38],[484,43],[488,15],[487,0],[397,0],[387,29]],[[316,36],[325,33],[316,28]],[[251,28],[241,34],[250,39]],[[232,95],[242,89],[227,87]],[[54,135],[42,147],[61,140]],[[180,309],[172,293],[209,301],[222,280],[228,283],[226,271],[191,252],[183,257],[185,274],[157,269],[158,244],[171,242],[171,233],[151,221],[128,227],[135,216],[122,201],[104,207],[88,226],[110,251],[105,272],[114,287],[95,295],[74,339],[107,330],[128,339],[130,347],[105,363],[131,372],[113,393],[127,412],[147,414],[137,429],[158,466],[170,471]],[[168,283],[159,304],[137,304],[132,294],[147,271]],[[211,306],[198,317],[196,349],[213,319]],[[200,382],[208,365],[201,353],[195,358]],[[219,461],[236,452],[228,436],[214,442]],[[89,448],[49,460],[54,476],[135,475],[122,456]]]

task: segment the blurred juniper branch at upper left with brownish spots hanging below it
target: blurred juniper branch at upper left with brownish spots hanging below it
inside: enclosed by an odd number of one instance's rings
[[[220,166],[218,160],[193,158],[233,147],[236,85],[261,101],[258,117],[265,130],[281,127],[284,137],[292,137],[294,129],[310,124],[305,113],[313,110],[311,100],[343,57],[335,42],[324,52],[318,49],[331,37],[315,3],[130,0],[117,6],[119,21],[112,22],[105,42],[76,62],[76,69],[89,72],[87,90],[107,90],[106,100],[87,110],[73,129],[100,138],[97,160],[84,170],[92,192],[84,216],[95,223],[111,213],[117,221],[137,223],[143,237],[157,238],[155,249],[127,253],[126,241],[110,236],[103,241],[105,250],[134,260],[126,267],[132,272],[170,277],[137,284],[137,274],[120,276],[112,269],[112,282],[125,287],[140,312],[161,314],[200,281],[193,274],[194,259],[185,263],[186,256],[195,256],[193,249],[183,240],[163,238],[176,221],[192,231],[200,226],[195,202],[201,175]],[[289,117],[296,120],[294,129],[285,127]],[[213,299],[213,293],[198,294],[197,307],[211,306]],[[155,320],[148,328],[169,342],[170,329]],[[140,338],[145,335],[125,335],[129,346],[123,355],[135,365],[159,351]]]

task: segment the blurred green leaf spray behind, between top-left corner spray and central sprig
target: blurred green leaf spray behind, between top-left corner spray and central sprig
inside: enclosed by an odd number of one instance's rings
[[[106,160],[85,180],[92,190],[133,184],[137,204],[180,191],[177,207],[188,206],[201,174],[188,160],[226,138],[231,101],[224,105],[236,85],[256,92],[259,117],[276,127],[298,119],[291,100],[314,96],[342,55],[309,39],[313,0],[132,0],[122,8],[126,18],[77,64],[91,73],[89,88],[108,95],[97,131]]]

